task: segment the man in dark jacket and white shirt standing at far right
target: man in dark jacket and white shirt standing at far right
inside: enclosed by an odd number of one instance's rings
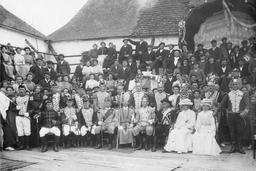
[[[231,91],[221,101],[221,107],[227,110],[227,122],[231,136],[230,153],[245,154],[242,149],[244,116],[249,111],[249,98],[239,90],[241,82],[233,79],[230,83]]]

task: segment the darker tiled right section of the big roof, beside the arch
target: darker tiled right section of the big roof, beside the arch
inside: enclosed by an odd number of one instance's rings
[[[178,23],[188,14],[188,0],[159,0],[143,10],[132,35],[177,35]]]

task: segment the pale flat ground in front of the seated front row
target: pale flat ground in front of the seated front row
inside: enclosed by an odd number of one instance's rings
[[[0,170],[21,171],[256,171],[252,151],[221,154],[218,157],[193,154],[152,153],[144,150],[70,148],[46,153],[33,151],[0,152]]]

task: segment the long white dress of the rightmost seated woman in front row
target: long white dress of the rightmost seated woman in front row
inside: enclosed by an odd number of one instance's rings
[[[221,149],[216,142],[216,126],[212,111],[198,113],[196,132],[193,135],[193,153],[203,155],[219,155]]]

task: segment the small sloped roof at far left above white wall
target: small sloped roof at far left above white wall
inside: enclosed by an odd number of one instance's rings
[[[0,27],[5,27],[16,32],[22,32],[23,34],[40,39],[46,39],[45,35],[6,10],[2,5],[0,5]]]

